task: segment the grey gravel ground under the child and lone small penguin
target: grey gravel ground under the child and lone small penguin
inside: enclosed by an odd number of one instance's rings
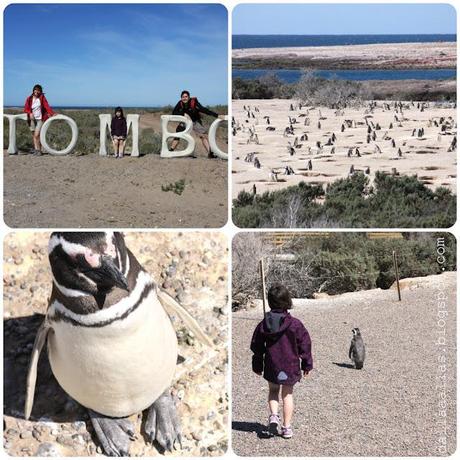
[[[315,369],[296,385],[294,437],[259,438],[267,384],[251,372],[249,343],[261,309],[232,317],[232,446],[243,456],[438,456],[456,446],[456,272],[414,279],[402,291],[304,300],[293,310],[310,332]],[[438,292],[447,293],[446,325]],[[442,309],[442,305],[440,306]],[[367,360],[349,367],[351,329]],[[436,345],[445,327],[446,345]],[[444,371],[440,359],[445,358]],[[445,390],[442,389],[445,377]],[[445,391],[445,393],[444,393]],[[439,415],[446,404],[444,417]],[[446,443],[443,443],[446,430]]]

